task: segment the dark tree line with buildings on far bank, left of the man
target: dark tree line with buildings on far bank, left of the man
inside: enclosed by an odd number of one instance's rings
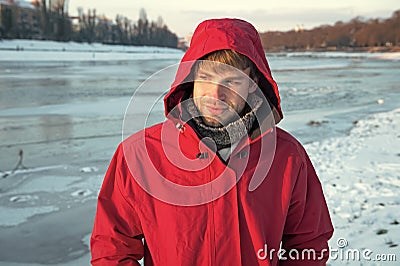
[[[55,41],[98,42],[122,45],[178,46],[178,37],[161,17],[150,21],[140,10],[134,22],[117,15],[115,21],[97,15],[96,9],[68,16],[67,0],[33,1],[34,8],[4,5],[0,13],[0,39],[42,39]]]

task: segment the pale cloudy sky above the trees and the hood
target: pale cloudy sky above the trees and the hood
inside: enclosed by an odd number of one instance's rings
[[[356,16],[388,18],[400,9],[399,0],[69,0],[70,15],[78,7],[96,9],[115,19],[117,14],[136,21],[144,8],[149,20],[162,17],[168,28],[179,37],[193,33],[204,19],[237,17],[251,22],[258,31],[288,31],[296,26],[305,29],[349,21]]]

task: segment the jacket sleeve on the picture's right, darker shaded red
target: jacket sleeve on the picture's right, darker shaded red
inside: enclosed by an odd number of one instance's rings
[[[333,226],[321,183],[306,152],[295,179],[279,265],[326,265]]]

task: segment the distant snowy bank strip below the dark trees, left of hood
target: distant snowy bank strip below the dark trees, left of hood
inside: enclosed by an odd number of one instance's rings
[[[155,46],[124,46],[40,40],[0,40],[1,61],[144,60],[151,58],[175,58],[182,55],[183,52],[179,49]]]

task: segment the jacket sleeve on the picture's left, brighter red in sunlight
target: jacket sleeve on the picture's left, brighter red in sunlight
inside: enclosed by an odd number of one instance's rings
[[[120,145],[98,196],[90,239],[92,265],[139,265],[143,258],[140,220],[122,190],[128,172]]]

